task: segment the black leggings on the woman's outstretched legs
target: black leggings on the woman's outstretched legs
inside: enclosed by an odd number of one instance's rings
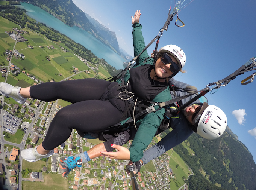
[[[124,101],[100,100],[109,85],[111,82],[105,80],[80,79],[31,86],[32,98],[47,102],[63,99],[73,103],[59,110],[53,118],[42,143],[44,149],[52,150],[64,143],[72,129],[102,131],[118,123],[123,116]]]

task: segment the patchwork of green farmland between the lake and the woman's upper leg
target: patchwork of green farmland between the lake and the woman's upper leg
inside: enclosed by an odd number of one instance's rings
[[[5,18],[0,18],[0,51],[4,52],[5,49],[13,49],[15,41],[9,37],[5,31],[13,31],[12,28],[19,28],[17,24],[14,24],[11,21],[8,21]],[[90,68],[83,63],[77,56],[75,56],[71,52],[64,52],[57,44],[48,40],[44,35],[37,34],[36,32],[24,29],[25,31],[29,31],[29,34],[23,34],[23,37],[28,41],[20,42],[16,44],[15,49],[17,49],[20,53],[23,53],[24,60],[14,59],[12,58],[12,64],[17,65],[21,69],[23,68],[26,73],[30,73],[39,80],[46,82],[47,80],[61,81],[72,74],[73,67],[79,69],[79,71],[90,70]],[[9,46],[8,45],[11,45]],[[57,43],[57,42],[56,42]],[[65,49],[68,49],[64,44],[59,43]],[[27,47],[27,45],[33,46],[33,49]],[[43,46],[39,47],[39,46]],[[53,48],[48,48],[47,46],[54,46]],[[70,50],[70,49],[68,49]],[[50,58],[50,61],[46,59],[46,57]],[[0,57],[0,62],[4,62],[5,65],[8,65],[8,62],[4,57]],[[104,71],[103,71],[104,72]],[[62,76],[59,75],[62,74]],[[108,72],[102,74],[104,77],[109,75]],[[79,78],[91,78],[94,74],[82,74]],[[26,77],[26,76],[25,76]],[[9,77],[8,77],[9,78]],[[20,77],[17,77],[15,80],[21,80]],[[23,80],[29,79],[27,77]],[[3,79],[2,79],[3,80]],[[17,81],[13,79],[8,79],[10,83],[15,84]],[[32,85],[34,83],[33,80],[29,79],[28,83]]]

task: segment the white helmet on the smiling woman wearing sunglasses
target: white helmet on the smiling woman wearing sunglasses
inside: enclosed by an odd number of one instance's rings
[[[186,55],[183,52],[182,49],[180,49],[178,46],[176,45],[167,45],[164,47],[161,47],[159,49],[159,52],[166,52],[166,53],[170,53],[171,55],[174,56],[174,58],[177,60],[177,62],[180,65],[180,68],[182,69],[184,67],[184,65],[186,64]]]

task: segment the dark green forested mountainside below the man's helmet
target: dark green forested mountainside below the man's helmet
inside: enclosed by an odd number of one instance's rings
[[[203,139],[194,133],[186,144],[195,152],[194,156],[181,144],[173,149],[195,174],[188,180],[189,190],[198,190],[196,183],[211,189],[209,181],[226,190],[256,189],[256,165],[251,153],[227,132],[216,140]]]

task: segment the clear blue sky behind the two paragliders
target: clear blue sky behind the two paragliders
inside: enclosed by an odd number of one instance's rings
[[[189,0],[185,0],[185,3]],[[141,10],[142,33],[145,43],[155,37],[164,25],[168,9],[174,0],[162,1],[91,1],[73,2],[92,18],[115,31],[119,46],[133,54],[131,16]],[[171,21],[164,31],[159,48],[175,44],[186,54],[185,74],[176,80],[203,89],[236,71],[251,57],[256,56],[255,0],[194,0],[179,12],[185,27],[179,28]],[[175,16],[175,18],[177,18]],[[148,52],[155,49],[155,44]],[[256,110],[254,96],[256,82],[241,85],[241,80],[252,72],[236,77],[215,94],[207,94],[209,104],[220,107],[227,115],[228,126],[244,143],[256,160]]]

